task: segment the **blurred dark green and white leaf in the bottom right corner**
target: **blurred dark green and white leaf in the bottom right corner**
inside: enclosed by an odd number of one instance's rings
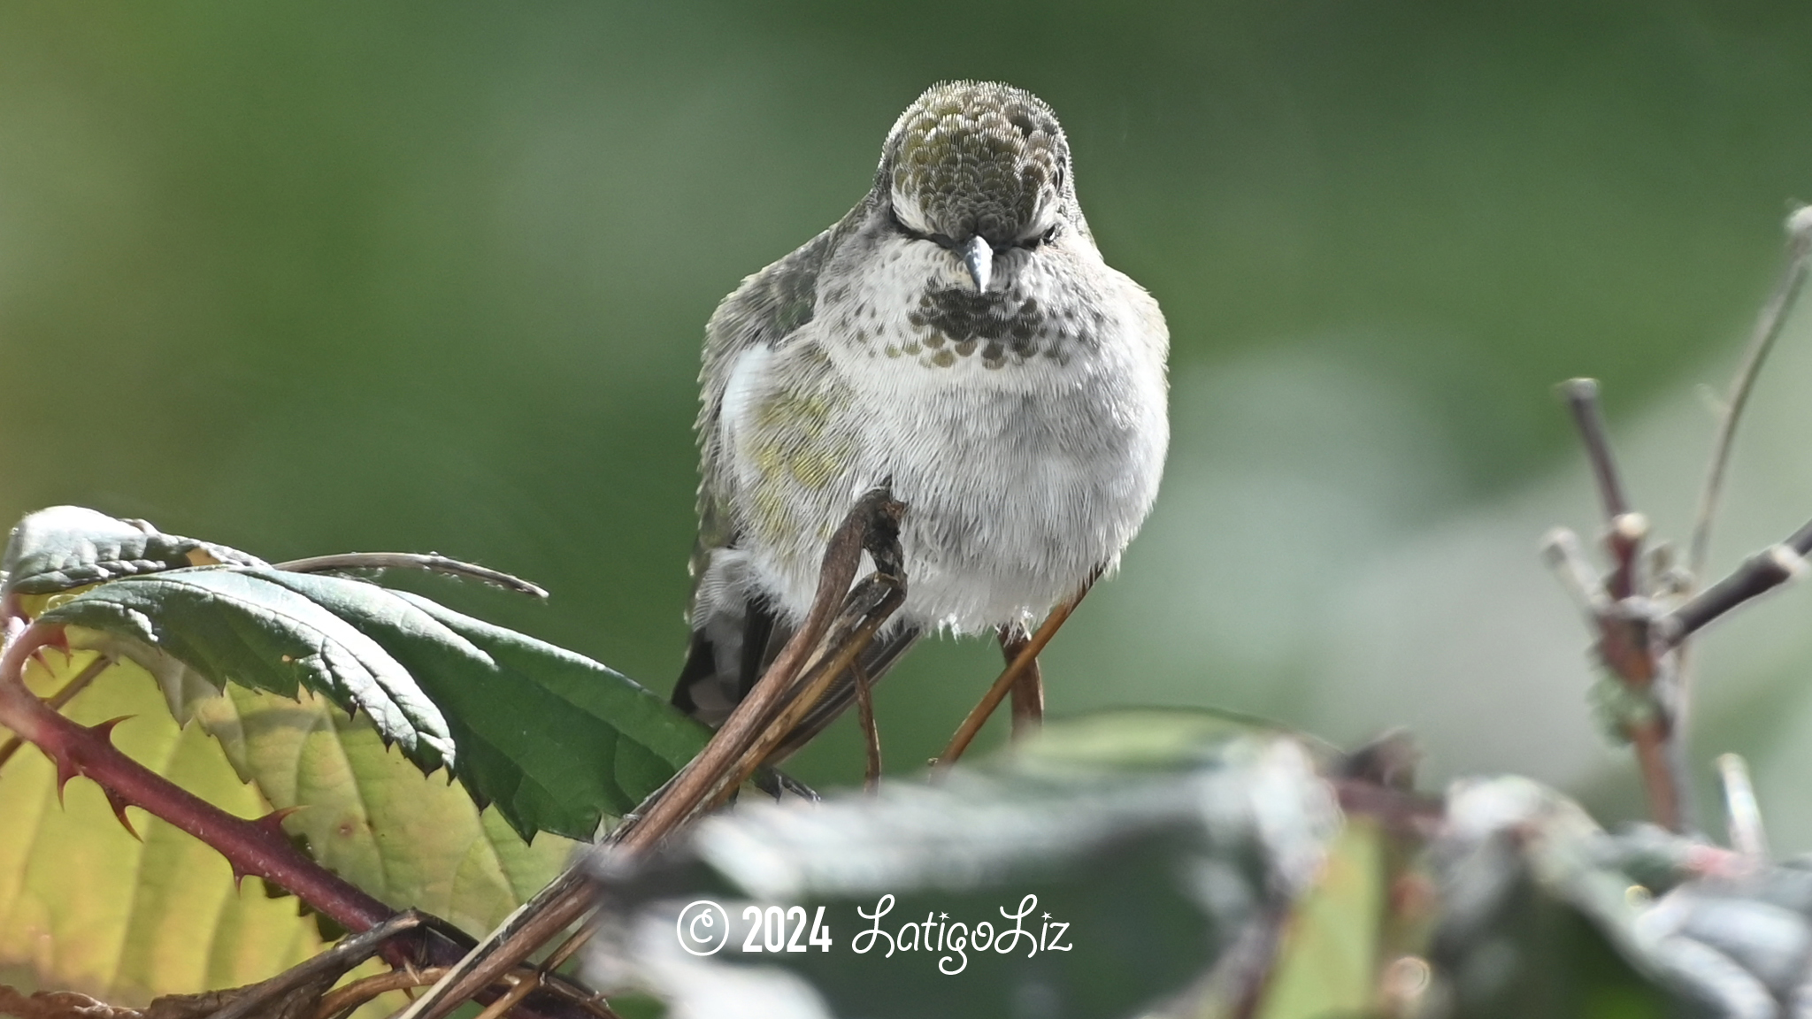
[[[1460,1015],[1799,1015],[1812,872],[1654,829],[1607,834],[1524,778],[1457,783],[1431,963]]]

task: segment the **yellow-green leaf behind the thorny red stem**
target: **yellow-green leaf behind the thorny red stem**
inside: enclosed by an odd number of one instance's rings
[[[51,673],[27,667],[40,694],[91,655],[43,658]],[[114,742],[134,760],[234,814],[270,809],[207,733],[170,720],[143,676],[109,669],[67,713],[82,723],[130,714]],[[259,981],[321,946],[295,899],[265,896],[257,878],[236,887],[214,849],[130,809],[134,839],[92,781],[71,781],[58,805],[56,771],[31,747],[0,769],[0,983],[143,1004]]]

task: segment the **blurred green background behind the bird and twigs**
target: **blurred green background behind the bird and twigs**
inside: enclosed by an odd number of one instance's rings
[[[1812,198],[1808,53],[1785,2],[4,4],[0,513],[473,558],[554,597],[428,589],[665,691],[705,319],[864,192],[922,87],[1000,78],[1064,118],[1174,343],[1167,488],[1047,655],[1053,709],[1402,723],[1430,781],[1515,769],[1627,816],[1535,555],[1595,529],[1551,384],[1605,381],[1683,537],[1694,386]],[[1720,564],[1812,515],[1805,332]],[[1701,656],[1694,767],[1750,754],[1787,849],[1807,606]],[[995,667],[917,651],[881,691],[890,765]],[[797,771],[853,781],[848,725]]]

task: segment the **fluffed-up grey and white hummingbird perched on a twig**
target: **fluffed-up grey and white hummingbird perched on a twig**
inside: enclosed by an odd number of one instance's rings
[[[805,618],[824,544],[888,484],[906,600],[870,682],[928,633],[1024,638],[1111,571],[1169,444],[1158,303],[1111,268],[1042,100],[946,82],[873,187],[705,326],[692,640],[674,704],[718,725]],[[853,698],[850,676],[797,749]]]

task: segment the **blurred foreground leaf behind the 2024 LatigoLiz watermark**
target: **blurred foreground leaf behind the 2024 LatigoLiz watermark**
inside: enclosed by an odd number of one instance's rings
[[[1176,995],[1236,995],[1259,975],[1243,963],[1252,937],[1321,872],[1337,810],[1299,743],[1201,718],[1053,723],[931,785],[710,818],[645,869],[603,872],[620,925],[589,972],[603,985],[652,977],[696,1015],[1131,1015]],[[1180,729],[1200,740],[1154,756],[1142,729],[1158,743]],[[1065,747],[1084,752],[1051,767]],[[1154,771],[1158,758],[1190,763]],[[708,957],[676,937],[701,898],[728,925]],[[823,907],[830,950],[745,954],[768,937],[768,907],[814,919]],[[982,923],[1027,934],[1006,952],[998,939],[977,948]]]

